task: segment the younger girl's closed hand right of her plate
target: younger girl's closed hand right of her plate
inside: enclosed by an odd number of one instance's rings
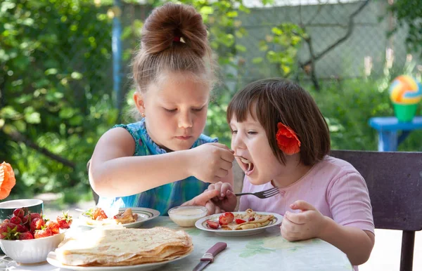
[[[306,240],[319,237],[326,227],[326,217],[314,206],[306,201],[298,200],[290,204],[293,210],[300,213],[286,211],[281,223],[281,236],[288,241]]]

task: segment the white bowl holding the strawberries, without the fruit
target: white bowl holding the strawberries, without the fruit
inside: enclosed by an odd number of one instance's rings
[[[49,237],[29,240],[0,239],[1,250],[20,264],[44,263],[50,251],[57,249],[65,238],[65,232]]]

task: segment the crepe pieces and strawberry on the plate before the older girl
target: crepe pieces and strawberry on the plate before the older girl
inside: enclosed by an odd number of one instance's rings
[[[113,225],[134,223],[138,220],[138,214],[132,213],[132,209],[128,208],[120,211],[113,218],[109,218],[103,209],[93,208],[83,213],[87,218],[88,225]]]

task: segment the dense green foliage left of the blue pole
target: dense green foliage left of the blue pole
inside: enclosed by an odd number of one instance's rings
[[[110,20],[88,0],[1,2],[0,157],[15,169],[13,194],[87,187],[86,163],[117,118],[104,29]]]

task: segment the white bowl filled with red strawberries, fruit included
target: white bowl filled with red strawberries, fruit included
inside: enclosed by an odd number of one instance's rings
[[[11,218],[0,224],[1,250],[22,265],[44,263],[49,252],[63,241],[71,223],[72,218],[67,213],[48,220],[41,213],[15,209]]]

